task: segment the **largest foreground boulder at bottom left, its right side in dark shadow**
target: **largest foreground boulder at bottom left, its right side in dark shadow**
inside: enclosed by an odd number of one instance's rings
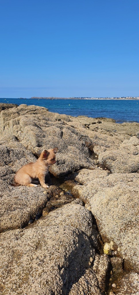
[[[87,284],[89,280],[89,288],[101,295],[109,259],[96,255],[91,247],[91,224],[87,209],[68,204],[65,209],[50,212],[24,230],[1,233],[1,294],[66,295],[74,288],[86,290],[83,282]],[[96,270],[86,270],[90,258]]]

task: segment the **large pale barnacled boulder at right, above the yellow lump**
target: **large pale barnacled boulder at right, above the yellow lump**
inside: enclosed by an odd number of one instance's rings
[[[91,206],[103,241],[113,240],[125,269],[138,271],[138,174],[83,169],[75,179],[73,194]]]

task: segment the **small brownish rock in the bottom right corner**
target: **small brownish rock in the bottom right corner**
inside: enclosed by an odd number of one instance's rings
[[[119,286],[117,295],[137,295],[139,294],[139,274],[128,273],[126,274]]]

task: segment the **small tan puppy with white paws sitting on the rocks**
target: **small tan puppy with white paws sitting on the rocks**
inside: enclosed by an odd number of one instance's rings
[[[38,178],[40,184],[44,188],[48,188],[45,184],[45,176],[48,173],[49,166],[56,163],[57,148],[43,150],[40,157],[35,163],[29,163],[21,167],[14,176],[13,186],[37,186],[38,181],[33,180]]]

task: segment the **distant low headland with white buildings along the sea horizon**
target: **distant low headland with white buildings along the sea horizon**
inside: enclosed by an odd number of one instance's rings
[[[33,96],[30,99],[139,99],[139,96],[126,96],[126,97],[37,97]]]

